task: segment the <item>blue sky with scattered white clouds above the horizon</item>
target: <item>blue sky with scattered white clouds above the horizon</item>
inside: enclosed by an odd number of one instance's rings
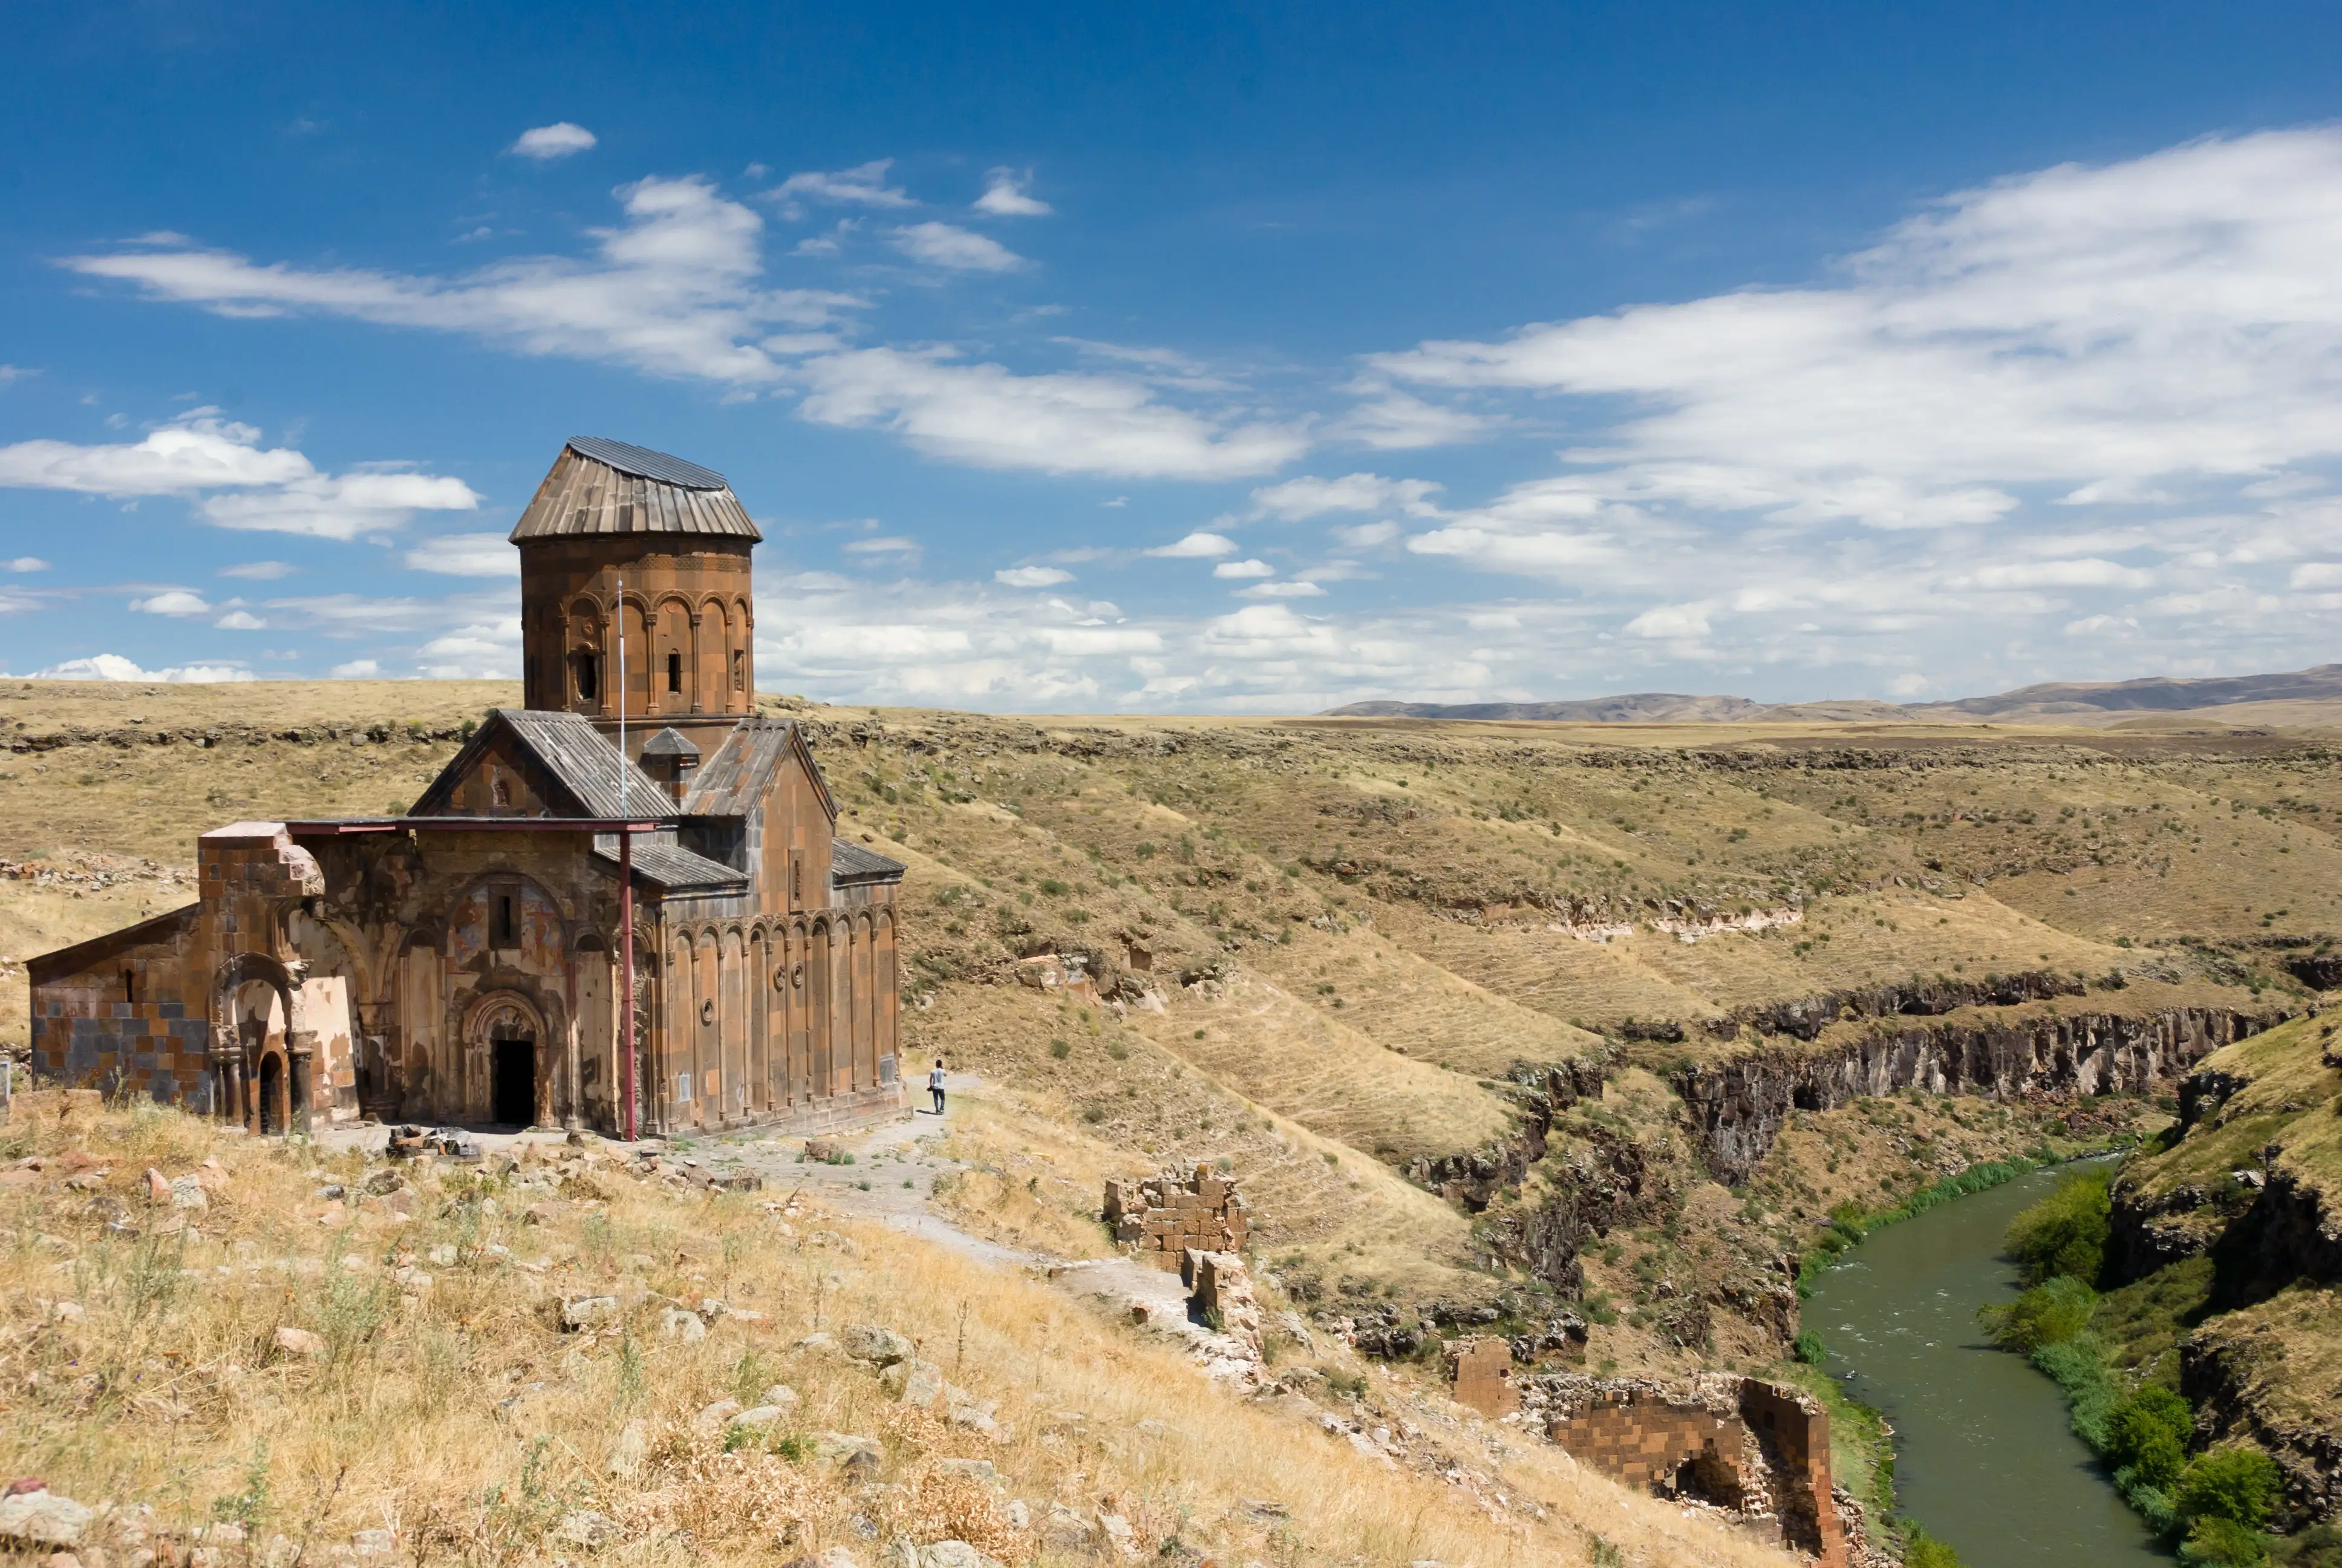
[[[12,16],[0,668],[513,675],[571,434],[831,701],[2335,656],[2330,9],[489,9]]]

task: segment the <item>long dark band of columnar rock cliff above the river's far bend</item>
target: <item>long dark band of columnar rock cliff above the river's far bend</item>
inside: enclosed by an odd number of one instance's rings
[[[2281,1015],[2162,1008],[2014,1022],[1892,1027],[1824,1050],[1761,1048],[1675,1078],[1710,1167],[1738,1186],[1756,1174],[1789,1111],[1829,1111],[1867,1095],[2143,1095]]]

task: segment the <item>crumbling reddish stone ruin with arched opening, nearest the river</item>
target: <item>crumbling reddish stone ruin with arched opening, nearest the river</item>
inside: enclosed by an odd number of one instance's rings
[[[1726,1373],[1684,1385],[1553,1376],[1522,1392],[1546,1434],[1579,1463],[1628,1486],[1775,1521],[1787,1545],[1824,1568],[1848,1568],[1829,1416],[1813,1399]]]

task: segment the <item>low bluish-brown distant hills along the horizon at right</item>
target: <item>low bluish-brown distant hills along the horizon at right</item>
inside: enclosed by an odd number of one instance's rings
[[[1998,696],[1949,703],[1878,703],[1869,698],[1759,703],[1747,696],[1684,696],[1628,691],[1569,703],[1347,703],[1321,717],[1358,720],[1548,720],[1562,724],[1747,724],[1773,722],[1895,722],[1895,720],[2094,720],[2115,713],[2187,713],[2234,703],[2342,703],[2342,663],[2286,675],[2223,675],[2211,680],[2042,682]]]

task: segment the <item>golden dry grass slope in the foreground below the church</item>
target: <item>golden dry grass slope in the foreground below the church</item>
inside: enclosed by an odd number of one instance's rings
[[[1009,1561],[1068,1561],[1012,1523],[1052,1502],[1129,1519],[1155,1556],[1197,1552],[1279,1563],[1583,1563],[1609,1542],[1628,1563],[1756,1568],[1782,1554],[1574,1470],[1557,1451],[1419,1402],[1370,1371],[1365,1409],[1447,1446],[1459,1484],[1389,1467],[1283,1406],[1241,1402],[1136,1331],[1091,1317],[1042,1282],[970,1263],[881,1226],[813,1212],[782,1221],[749,1195],[672,1193],[595,1172],[548,1202],[520,1177],[417,1177],[417,1219],[368,1205],[319,1223],[323,1177],[356,1184],[356,1155],[218,1137],[173,1111],[59,1116],[26,1104],[14,1153],[87,1153],[112,1174],[98,1198],[9,1191],[0,1256],[7,1465],[84,1500],[148,1502],[166,1530],[213,1519],[323,1549],[358,1528],[398,1533],[403,1561],[534,1563],[560,1552],[614,1563],[752,1561],[773,1552],[960,1538]],[[199,1235],[164,1235],[136,1172],[225,1167]],[[454,1263],[429,1263],[457,1247]],[[431,1284],[398,1275],[415,1254]],[[536,1273],[541,1268],[541,1273]],[[562,1296],[635,1298],[607,1334],[562,1334]],[[663,1338],[663,1303],[721,1298],[700,1343]],[[70,1303],[70,1305],[59,1305]],[[991,1441],[885,1402],[874,1378],[794,1348],[815,1329],[883,1322],[953,1383],[998,1404]],[[272,1350],[279,1327],[321,1336],[319,1357]],[[771,1383],[801,1395],[789,1439],[857,1432],[883,1444],[878,1486],[855,1486],[768,1434],[696,1432],[693,1416]],[[1379,1418],[1379,1416],[1377,1416]],[[607,1463],[644,1423],[642,1472]],[[1000,1488],[944,1470],[981,1458]],[[1267,1523],[1267,1500],[1286,1509]],[[600,1552],[550,1540],[569,1509],[618,1523]],[[867,1556],[864,1556],[867,1561]]]

